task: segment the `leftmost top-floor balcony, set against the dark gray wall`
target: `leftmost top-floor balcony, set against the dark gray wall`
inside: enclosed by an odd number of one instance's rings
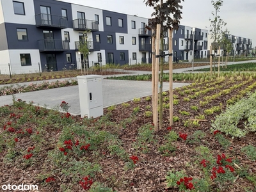
[[[35,15],[36,28],[65,29],[68,27],[67,17],[40,13]]]

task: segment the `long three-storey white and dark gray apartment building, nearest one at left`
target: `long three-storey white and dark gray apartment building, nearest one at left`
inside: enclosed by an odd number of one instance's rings
[[[1,0],[0,73],[25,74],[116,63],[151,63],[147,18],[58,0]],[[79,42],[88,39],[84,58]],[[194,39],[194,41],[193,41]],[[173,32],[173,60],[204,58],[207,30],[180,26]],[[168,52],[168,37],[164,38]],[[167,58],[166,58],[167,60]]]

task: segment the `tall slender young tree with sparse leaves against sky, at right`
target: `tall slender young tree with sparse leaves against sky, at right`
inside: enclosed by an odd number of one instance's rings
[[[213,19],[210,20],[210,33],[211,39],[213,40],[212,49],[214,50],[214,54],[217,53],[218,45],[220,45],[220,40],[222,36],[222,28],[226,26],[226,22],[224,22],[218,13],[220,12],[220,8],[223,5],[223,0],[211,1],[212,6],[214,7],[214,12],[212,12]],[[211,54],[211,52],[210,52]],[[214,73],[215,73],[215,60],[214,60]]]

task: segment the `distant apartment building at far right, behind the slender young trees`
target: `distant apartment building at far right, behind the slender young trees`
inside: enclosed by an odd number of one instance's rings
[[[229,52],[230,55],[237,56],[237,55],[243,55],[246,56],[248,54],[250,54],[252,52],[252,39],[250,38],[244,38],[241,36],[235,36],[235,35],[226,35],[226,37],[228,38],[228,40],[230,40],[231,44],[232,44],[232,49]],[[209,47],[208,49],[210,49],[210,45],[212,45],[213,47],[213,40],[211,39],[211,35],[209,36]],[[220,47],[221,49],[221,55],[224,54],[224,50],[223,47]]]

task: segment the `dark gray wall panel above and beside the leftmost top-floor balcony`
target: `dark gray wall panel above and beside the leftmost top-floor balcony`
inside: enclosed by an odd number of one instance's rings
[[[67,10],[68,28],[73,28],[71,3],[55,0],[34,0],[35,15],[41,13],[40,6],[49,6],[51,8],[51,15],[61,16],[61,9]]]

